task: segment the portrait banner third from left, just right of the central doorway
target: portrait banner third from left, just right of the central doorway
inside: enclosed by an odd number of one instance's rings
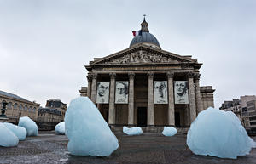
[[[167,81],[154,81],[154,104],[168,104]]]

